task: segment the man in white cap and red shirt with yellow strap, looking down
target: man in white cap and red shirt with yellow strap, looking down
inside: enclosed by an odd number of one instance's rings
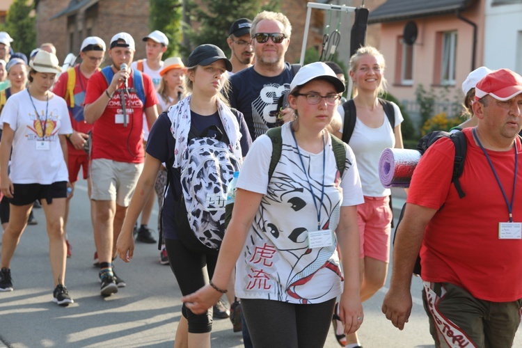
[[[69,68],[65,74],[61,74],[58,81],[54,85],[53,93],[63,97],[69,109],[71,119],[72,133],[68,134],[68,170],[69,181],[74,190],[74,183],[78,180],[80,168],[84,179],[88,178],[89,155],[84,150],[84,146],[88,141],[88,132],[93,129],[93,125],[89,125],[84,120],[84,98],[87,89],[87,83],[90,77],[100,70],[100,65],[105,56],[105,42],[97,36],[89,36],[80,47],[81,63],[74,68]],[[90,180],[87,180],[88,191],[90,193]],[[69,215],[70,200],[65,205],[65,217],[63,221],[63,229],[67,228],[67,219]],[[94,226],[93,212],[94,203],[90,200],[91,221]],[[67,240],[67,255],[70,258],[71,246]]]

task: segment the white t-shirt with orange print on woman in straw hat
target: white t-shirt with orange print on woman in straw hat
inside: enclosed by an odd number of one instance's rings
[[[2,125],[6,123],[15,131],[10,180],[15,184],[44,185],[68,181],[68,169],[58,139],[58,134],[72,133],[67,104],[54,93],[49,95],[48,106],[46,101],[32,100],[28,90],[12,95],[0,117]]]

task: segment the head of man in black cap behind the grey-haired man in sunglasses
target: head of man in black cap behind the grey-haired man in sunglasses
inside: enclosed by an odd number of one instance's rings
[[[228,72],[230,76],[252,66],[254,52],[250,36],[251,27],[252,21],[250,19],[239,18],[228,29],[227,43],[230,51],[232,51],[230,57],[232,72]]]

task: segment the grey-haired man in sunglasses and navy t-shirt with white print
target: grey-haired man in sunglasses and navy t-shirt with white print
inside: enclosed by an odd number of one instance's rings
[[[292,65],[285,63],[292,25],[283,13],[263,11],[250,30],[255,65],[230,77],[229,100],[244,114],[252,139],[277,125],[279,97],[290,89]]]

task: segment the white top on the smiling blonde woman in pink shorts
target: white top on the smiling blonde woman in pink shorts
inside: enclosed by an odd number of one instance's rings
[[[394,102],[392,102],[392,105],[395,110],[395,128],[402,123],[404,118],[399,106]],[[342,105],[338,107],[338,111],[344,126],[345,111],[342,109]],[[357,159],[357,168],[361,175],[364,195],[368,197],[390,196],[390,189],[385,189],[379,179],[381,154],[385,148],[395,147],[395,133],[393,133],[390,122],[388,122],[388,117],[384,115],[383,124],[377,128],[368,127],[357,118],[349,145],[354,150]]]

